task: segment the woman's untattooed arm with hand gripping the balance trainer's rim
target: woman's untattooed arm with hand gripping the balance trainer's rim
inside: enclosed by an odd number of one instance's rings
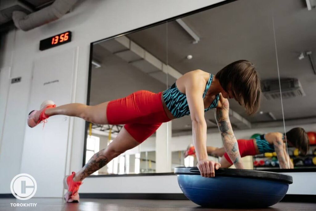
[[[185,94],[190,109],[192,121],[192,135],[195,152],[198,160],[197,168],[202,177],[214,177],[215,168],[220,164],[208,160],[206,152],[206,121],[204,118],[203,91],[205,83],[201,83],[204,78],[199,74],[192,74],[185,82]]]

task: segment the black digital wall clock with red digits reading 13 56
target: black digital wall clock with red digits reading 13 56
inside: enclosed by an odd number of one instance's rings
[[[59,46],[71,41],[71,31],[57,34],[40,41],[40,50],[46,50],[55,46]]]

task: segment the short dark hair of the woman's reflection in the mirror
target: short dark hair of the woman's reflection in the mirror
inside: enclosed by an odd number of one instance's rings
[[[295,127],[285,133],[287,141],[298,148],[303,155],[309,150],[309,138],[306,131],[301,127]]]

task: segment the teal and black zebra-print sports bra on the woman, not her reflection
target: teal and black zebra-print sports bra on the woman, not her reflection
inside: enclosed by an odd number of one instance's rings
[[[210,88],[213,78],[214,78],[214,75],[210,74],[210,78],[208,82],[206,83],[205,90],[203,92],[203,99]],[[189,105],[186,100],[186,96],[185,94],[183,94],[182,92],[178,90],[176,83],[174,83],[171,87],[165,90],[162,93],[162,96],[163,96],[163,100],[166,103],[167,108],[169,109],[169,111],[175,118],[180,118],[185,115],[190,115]],[[219,94],[216,95],[210,107],[207,109],[204,109],[204,112],[210,109],[216,108],[218,101],[219,101]]]

